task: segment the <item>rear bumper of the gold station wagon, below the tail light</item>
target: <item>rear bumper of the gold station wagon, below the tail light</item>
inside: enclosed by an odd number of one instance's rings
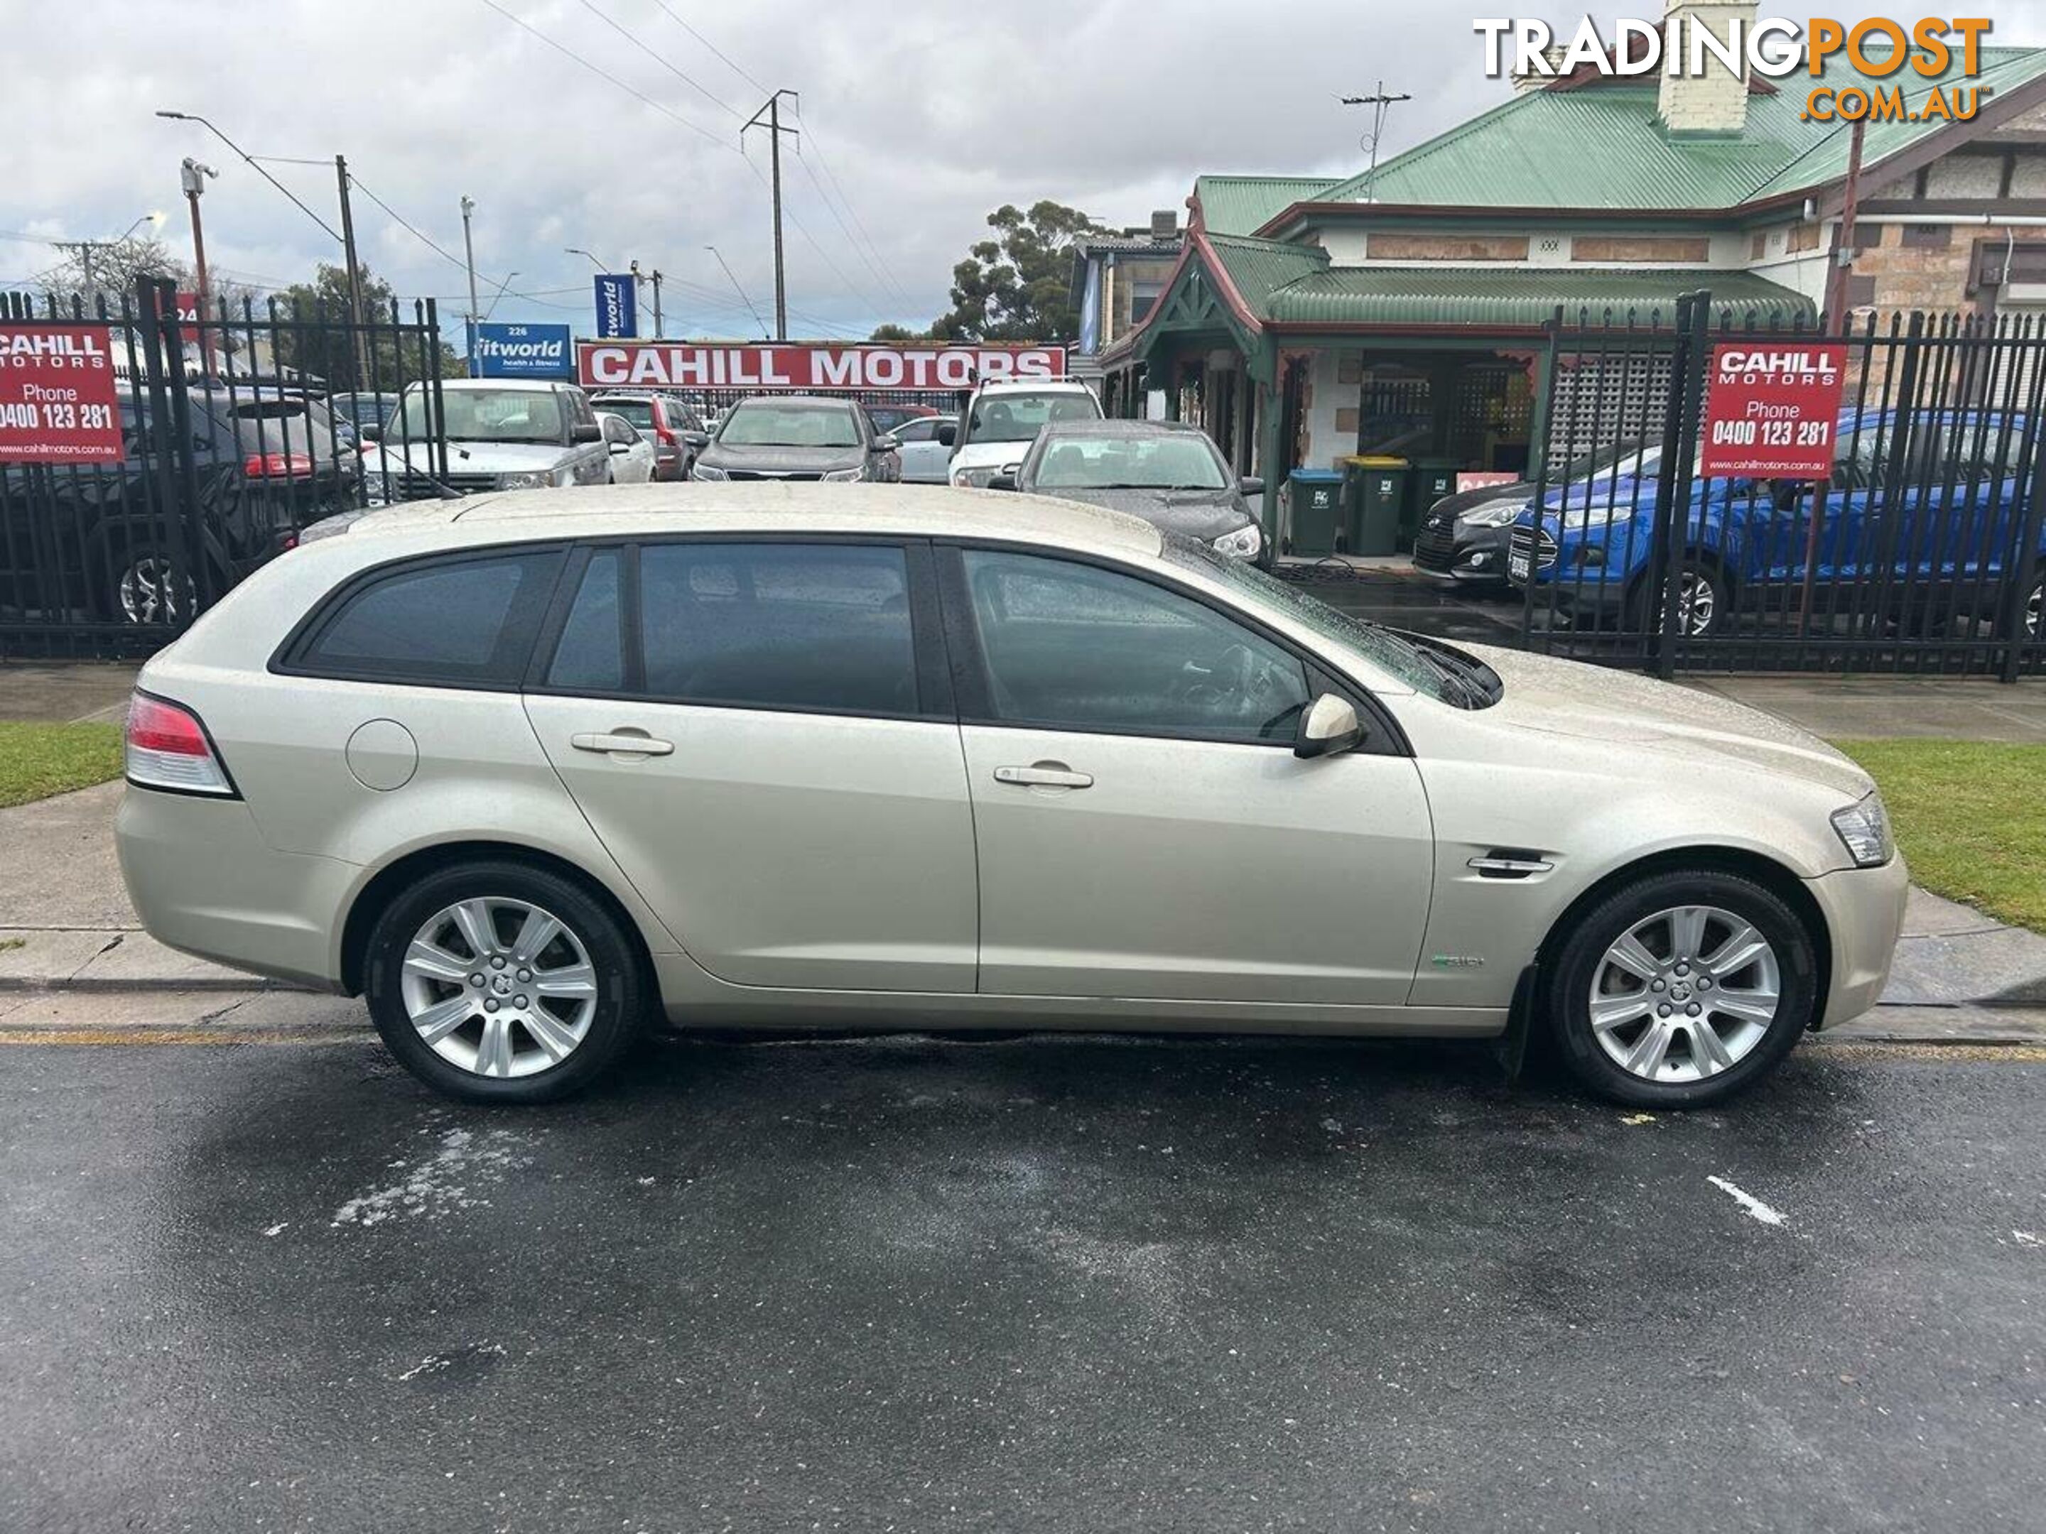
[[[248,804],[129,787],[115,816],[129,900],[149,937],[276,980],[340,988],[340,914],[360,869],[280,853]]]

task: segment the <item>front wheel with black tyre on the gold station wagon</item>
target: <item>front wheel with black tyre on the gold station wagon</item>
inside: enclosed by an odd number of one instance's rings
[[[1805,922],[1735,873],[1645,875],[1561,937],[1549,1027],[1571,1074],[1614,1102],[1721,1102],[1774,1070],[1819,1004]]]

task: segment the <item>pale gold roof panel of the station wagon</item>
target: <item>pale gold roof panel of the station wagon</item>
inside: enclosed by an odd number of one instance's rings
[[[417,534],[434,548],[534,538],[632,538],[663,532],[886,534],[1025,538],[1060,548],[1156,554],[1158,528],[1123,511],[1011,491],[939,485],[589,485],[507,491],[370,513],[350,538]]]

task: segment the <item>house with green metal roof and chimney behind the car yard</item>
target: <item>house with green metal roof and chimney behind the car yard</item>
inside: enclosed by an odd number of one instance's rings
[[[1725,37],[1755,10],[1672,0],[1665,25]],[[2046,313],[2046,49],[1983,45],[1974,65],[1958,47],[1929,78],[1839,55],[1817,80],[1582,65],[1356,176],[1199,176],[1162,292],[1095,358],[1107,407],[1162,395],[1199,419],[1266,481],[1277,526],[1291,468],[1354,452],[1526,472],[1559,313],[1670,325],[1708,290],[1731,323],[1815,323],[1835,262],[1862,317]],[[1841,252],[1856,133],[1831,104],[1854,88],[1909,110],[1862,127]],[[1559,382],[1557,413],[1596,407],[1590,370]]]

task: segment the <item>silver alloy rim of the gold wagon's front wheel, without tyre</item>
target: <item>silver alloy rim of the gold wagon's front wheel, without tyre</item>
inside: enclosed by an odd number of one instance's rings
[[[1702,1082],[1737,1066],[1782,1006],[1782,965],[1753,922],[1674,906],[1635,922],[1592,972],[1592,1035],[1627,1074]]]

